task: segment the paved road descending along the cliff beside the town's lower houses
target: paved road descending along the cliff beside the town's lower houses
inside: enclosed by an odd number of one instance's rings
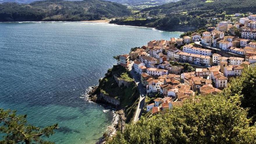
[[[144,88],[143,84],[141,83],[140,79],[138,77],[139,74],[136,74],[134,72],[134,70],[132,69],[132,66],[133,66],[134,62],[132,62],[130,65],[129,65],[129,71],[131,73],[131,76],[133,77],[137,87],[138,87],[138,90],[140,91],[140,101],[138,103],[138,106],[137,106],[137,109],[136,109],[136,113],[134,115],[134,122],[137,122],[140,118],[141,118],[141,114],[142,114],[142,111],[143,111],[143,107],[144,107],[144,102],[145,102],[145,98],[146,98],[146,94],[145,91],[146,89]],[[144,97],[142,97],[142,95],[144,95]]]

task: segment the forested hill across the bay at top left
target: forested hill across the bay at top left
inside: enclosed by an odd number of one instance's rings
[[[81,21],[131,15],[126,6],[101,0],[35,1],[30,4],[0,4],[0,22]]]

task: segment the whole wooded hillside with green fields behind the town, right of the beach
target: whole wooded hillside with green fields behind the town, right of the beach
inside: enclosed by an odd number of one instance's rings
[[[246,17],[248,12],[256,13],[255,0],[180,0],[142,9],[131,17],[112,23],[170,31],[193,31],[201,27],[216,27],[220,21],[237,22],[239,17],[235,17],[235,13]]]

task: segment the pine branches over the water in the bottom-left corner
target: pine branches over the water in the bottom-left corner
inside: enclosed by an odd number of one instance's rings
[[[16,111],[0,109],[0,132],[3,134],[0,143],[52,143],[44,141],[42,137],[54,134],[58,124],[41,129],[28,125],[26,117],[27,115],[16,115]]]

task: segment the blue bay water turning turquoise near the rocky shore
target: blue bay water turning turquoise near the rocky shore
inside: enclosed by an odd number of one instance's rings
[[[0,23],[0,107],[27,114],[29,123],[58,123],[55,143],[95,143],[113,113],[87,102],[118,54],[180,32],[89,22]]]

